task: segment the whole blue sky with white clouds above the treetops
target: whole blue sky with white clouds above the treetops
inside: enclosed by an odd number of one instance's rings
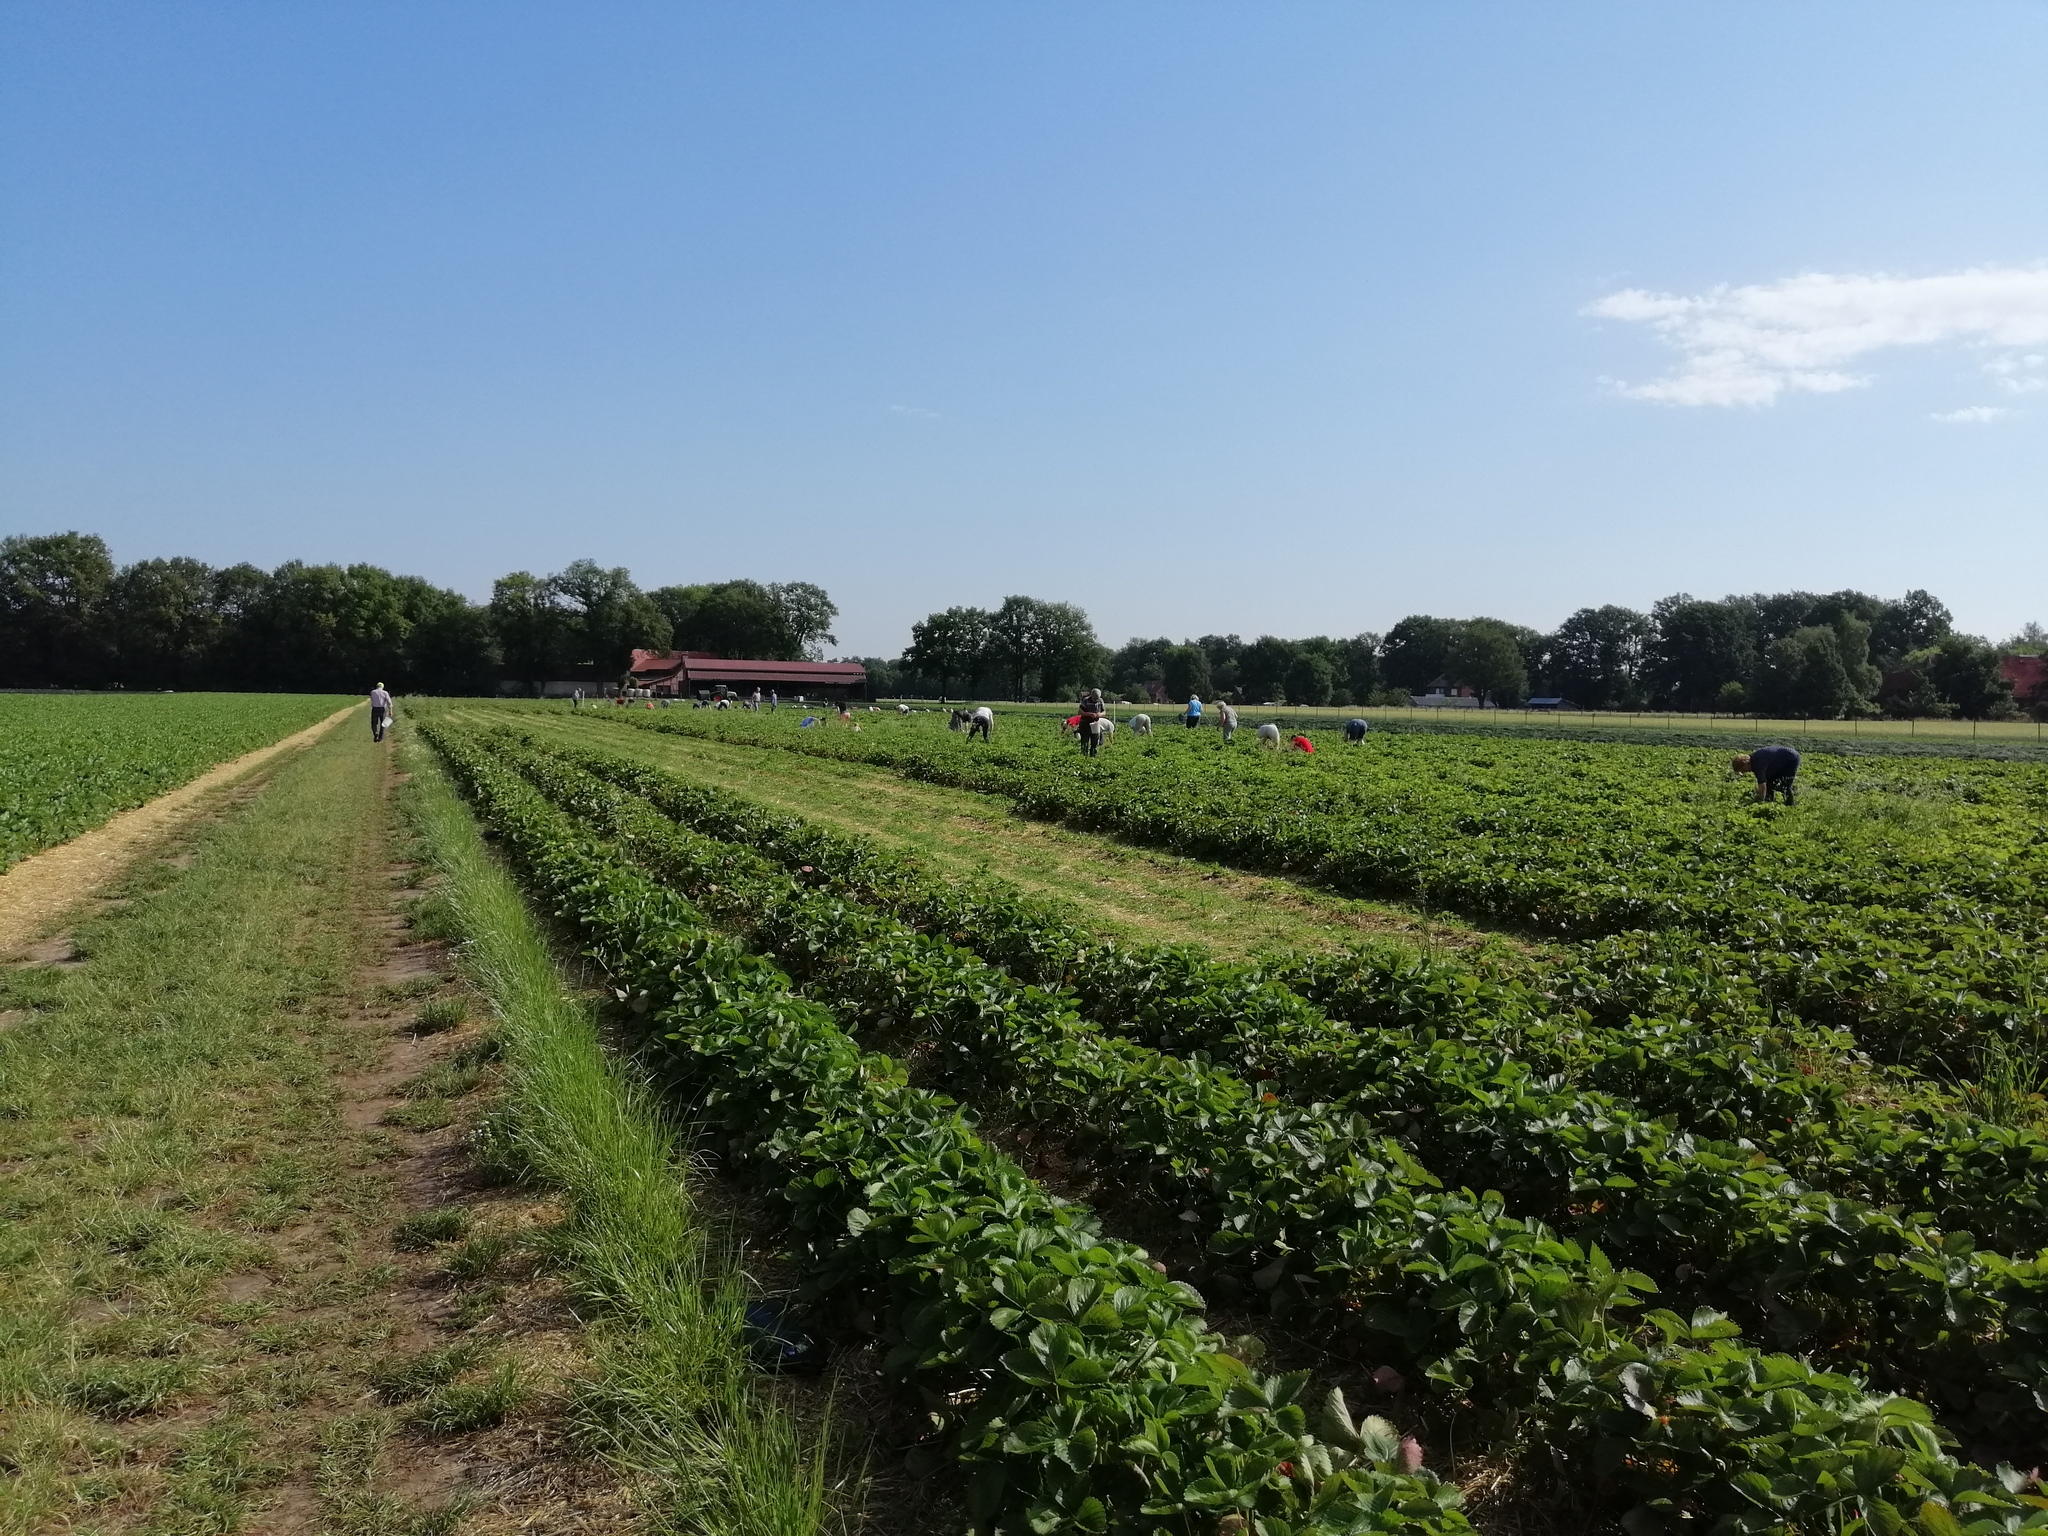
[[[0,532],[2048,621],[2044,4],[0,0]]]

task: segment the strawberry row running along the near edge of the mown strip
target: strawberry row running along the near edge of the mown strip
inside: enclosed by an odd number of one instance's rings
[[[1075,989],[1085,1016],[1163,1049],[1229,1049],[1241,1069],[1272,1073],[1296,1094],[1401,1110],[1444,1081],[1452,1065],[1446,1053],[1462,1057],[1456,1079],[1485,1081],[1493,1092],[1509,1083],[1528,1092],[1569,1073],[1671,1128],[1741,1137],[1827,1190],[1929,1210],[1942,1227],[1970,1231],[1995,1249],[2038,1247],[2048,1233],[2048,1141],[1960,1114],[1937,1096],[1905,1112],[1853,1104],[1839,1083],[1800,1067],[1800,1051],[1841,1047],[1812,1030],[1743,1036],[1692,1020],[1591,1028],[1579,1012],[1559,1018],[1530,987],[1442,965],[1346,956],[1247,967],[1190,948],[1124,946],[1001,883],[934,879],[866,840],[729,791],[573,743],[551,741],[549,750],[784,868],[829,874],[858,899],[950,934],[1028,981],[1065,987],[1085,975]],[[1331,1012],[1346,1022],[1403,1034],[1360,1038],[1354,1028],[1331,1028],[1305,997],[1337,1004]],[[1464,1049],[1438,1047],[1438,1034]],[[1391,1071],[1401,1059],[1427,1063],[1421,1087],[1415,1073]]]

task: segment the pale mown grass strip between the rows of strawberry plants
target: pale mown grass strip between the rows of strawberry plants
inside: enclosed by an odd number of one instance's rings
[[[1266,948],[1333,950],[1362,940],[1450,948],[1513,942],[1456,918],[1354,901],[1225,864],[1024,821],[997,795],[920,784],[885,768],[666,731],[592,731],[547,715],[508,721],[475,711],[469,717],[561,731],[569,739],[778,805],[836,831],[864,831],[891,848],[920,854],[934,868],[1001,874],[1032,895],[1071,903],[1081,922],[1124,938],[1194,942],[1227,956]]]

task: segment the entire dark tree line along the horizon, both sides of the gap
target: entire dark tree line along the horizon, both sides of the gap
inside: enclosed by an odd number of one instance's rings
[[[0,686],[494,692],[549,676],[614,678],[633,649],[819,659],[838,606],[809,582],[713,582],[643,592],[625,567],[580,559],[502,575],[469,602],[377,565],[215,569],[197,559],[115,565],[80,532],[0,539]],[[1384,635],[1202,635],[1102,645],[1071,602],[1010,596],[944,608],[899,657],[852,657],[874,692],[926,698],[1126,698],[1286,705],[1405,702],[1438,682],[1497,705],[1565,696],[1583,709],[1968,717],[2048,711],[2011,696],[1999,653],[2042,653],[2030,625],[1995,647],[1958,635],[1927,592],[1776,592],[1649,612],[1581,608],[1540,633],[1501,618],[1411,614]]]

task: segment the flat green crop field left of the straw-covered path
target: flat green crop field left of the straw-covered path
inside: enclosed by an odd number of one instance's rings
[[[0,694],[0,870],[348,702],[336,694]]]

